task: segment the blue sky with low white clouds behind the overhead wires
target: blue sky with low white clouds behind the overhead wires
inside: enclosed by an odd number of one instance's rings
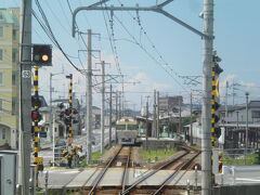
[[[61,42],[65,52],[73,56],[78,56],[78,50],[84,49],[82,41],[77,38],[72,38],[72,14],[69,12],[66,0],[39,0],[42,9],[44,10],[53,32]],[[156,0],[120,0],[123,5],[153,5]],[[90,0],[69,0],[73,10],[81,5],[89,5]],[[161,2],[161,1],[159,1]],[[1,0],[0,6],[15,6],[20,4],[20,0]],[[107,4],[118,5],[118,0],[110,0]],[[229,80],[230,84],[236,84],[234,92],[235,103],[245,101],[245,91],[249,91],[250,99],[259,99],[260,89],[259,81],[259,54],[260,54],[260,1],[259,0],[216,0],[214,1],[214,48],[222,58],[220,66],[224,69],[221,74],[221,82]],[[199,12],[203,10],[203,0],[176,0],[167,8],[169,13],[183,20],[193,27],[202,29],[202,18],[198,17]],[[34,10],[37,11],[34,4]],[[37,11],[38,15],[39,12]],[[107,13],[104,13],[107,21]],[[109,13],[108,13],[109,15]],[[134,18],[133,18],[134,17]],[[153,95],[152,92],[155,88],[162,94],[182,94],[185,102],[190,102],[188,92],[191,88],[185,86],[184,80],[180,76],[200,76],[202,75],[202,39],[183,28],[182,26],[173,23],[169,18],[151,12],[140,12],[139,17],[141,26],[148,36],[145,36],[138,24],[136,13],[134,12],[116,12],[113,20],[115,42],[119,58],[120,68],[125,80],[129,82],[141,81],[138,84],[128,83],[125,86],[126,99],[131,103],[140,106],[141,95]],[[77,24],[81,31],[91,28],[93,32],[101,34],[101,39],[96,36],[93,37],[93,49],[101,50],[102,60],[105,60],[112,65],[107,66],[107,73],[118,74],[108,41],[106,25],[102,12],[80,12],[77,16]],[[121,25],[122,24],[122,25]],[[50,43],[44,32],[34,20],[32,41],[34,43]],[[108,30],[110,30],[109,22],[107,21]],[[125,30],[128,29],[130,35]],[[86,38],[86,35],[83,35]],[[134,39],[132,38],[134,37]],[[134,42],[139,42],[153,56],[151,58],[147,53],[142,50]],[[78,43],[79,42],[79,43]],[[156,50],[154,49],[154,47]],[[158,54],[159,53],[159,54]],[[99,53],[94,53],[95,56]],[[160,57],[161,56],[161,57]],[[76,91],[78,96],[83,95],[83,81],[84,78],[75,73],[68,63],[62,57],[62,54],[54,48],[53,52],[53,67],[42,68],[41,89],[44,95],[49,91],[48,74],[60,73],[62,64],[65,74],[74,73],[77,77]],[[81,68],[78,60],[72,58],[73,62]],[[86,53],[80,52],[80,60],[86,64]],[[155,62],[156,61],[156,62]],[[99,60],[93,58],[93,62]],[[165,66],[165,64],[169,66]],[[96,67],[95,67],[96,66]],[[161,68],[164,66],[171,73],[170,77]],[[93,65],[99,68],[99,65]],[[172,70],[173,72],[172,72]],[[54,96],[67,95],[67,80],[64,75],[55,77],[54,88],[60,93],[54,93]],[[96,78],[98,80],[100,78]],[[178,80],[178,82],[176,82]],[[181,84],[179,84],[181,83]],[[237,84],[239,84],[237,87]],[[120,89],[120,86],[115,86]],[[192,89],[202,89],[202,86],[192,87]],[[221,91],[225,91],[224,84],[221,84]],[[62,93],[61,93],[62,92]],[[233,103],[232,94],[233,89],[229,88],[229,103]],[[199,100],[199,96],[197,96]],[[47,98],[48,99],[48,98]],[[100,104],[99,93],[94,94],[94,104]],[[129,104],[129,106],[131,106]]]

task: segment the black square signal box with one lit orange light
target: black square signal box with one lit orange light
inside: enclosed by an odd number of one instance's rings
[[[32,62],[37,65],[51,66],[52,48],[50,44],[34,44]]]

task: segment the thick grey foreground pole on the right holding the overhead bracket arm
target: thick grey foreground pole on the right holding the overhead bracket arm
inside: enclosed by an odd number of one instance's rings
[[[211,64],[213,52],[213,0],[204,0],[203,37],[203,140],[202,140],[202,195],[211,195]]]

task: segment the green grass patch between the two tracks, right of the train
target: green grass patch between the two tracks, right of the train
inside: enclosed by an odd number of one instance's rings
[[[155,161],[161,161],[167,159],[169,156],[176,154],[178,150],[171,148],[171,150],[156,150],[156,151],[146,151],[144,148],[140,148],[140,153],[143,155],[143,158],[145,160],[155,160]]]

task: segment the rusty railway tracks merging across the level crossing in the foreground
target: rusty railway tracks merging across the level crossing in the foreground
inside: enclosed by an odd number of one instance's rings
[[[98,177],[92,182],[91,188],[84,188],[83,194],[98,195],[98,194],[115,194],[115,195],[126,195],[126,194],[162,194],[168,191],[173,190],[172,186],[169,187],[169,182],[171,182],[174,177],[182,177],[187,170],[191,170],[195,162],[194,159],[200,154],[200,151],[186,145],[181,146],[184,153],[180,154],[178,157],[169,159],[164,164],[159,164],[157,168],[148,170],[143,177],[134,181],[131,185],[127,181],[129,179],[130,167],[132,167],[132,147],[121,146],[116,154],[110,158],[106,166],[99,172]],[[109,168],[121,168],[120,184],[116,186],[102,186],[102,180]],[[148,178],[156,174],[160,170],[171,170],[171,173],[164,179],[159,185],[143,185],[142,182]],[[181,171],[182,170],[182,171]],[[180,172],[181,171],[181,172]],[[109,173],[107,173],[109,176]],[[178,181],[176,182],[178,183]],[[140,185],[141,184],[141,185]],[[146,192],[146,193],[145,193]]]

